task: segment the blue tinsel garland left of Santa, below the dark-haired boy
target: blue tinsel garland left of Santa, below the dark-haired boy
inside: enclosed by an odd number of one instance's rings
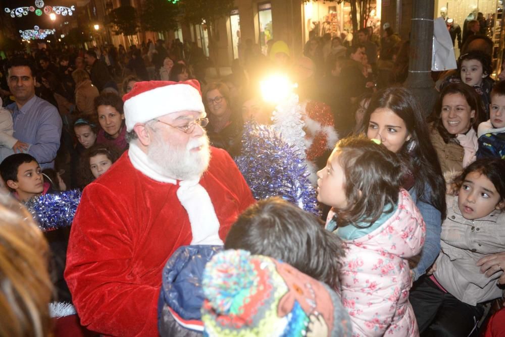
[[[71,190],[41,195],[28,201],[26,207],[42,231],[53,231],[72,224],[81,194],[80,190]]]

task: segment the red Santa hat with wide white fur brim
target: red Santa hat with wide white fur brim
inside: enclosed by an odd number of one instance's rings
[[[137,123],[145,123],[179,111],[197,111],[205,114],[201,101],[200,84],[196,80],[184,82],[136,82],[123,96],[126,130]]]

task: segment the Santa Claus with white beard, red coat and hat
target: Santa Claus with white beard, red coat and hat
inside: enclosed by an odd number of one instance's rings
[[[84,189],[65,278],[89,329],[157,336],[167,259],[222,244],[254,199],[231,157],[209,146],[197,81],[137,82],[123,100],[130,148]]]

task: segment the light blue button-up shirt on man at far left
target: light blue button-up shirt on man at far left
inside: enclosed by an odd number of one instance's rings
[[[54,168],[62,134],[58,109],[37,96],[33,96],[21,109],[16,103],[7,108],[13,111],[14,138],[28,143],[28,154],[37,159],[42,170]]]

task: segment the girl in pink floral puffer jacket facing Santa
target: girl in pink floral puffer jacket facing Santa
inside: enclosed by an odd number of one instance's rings
[[[420,253],[425,224],[395,154],[376,142],[338,142],[318,172],[318,200],[333,207],[327,229],[346,245],[339,278],[353,335],[418,336],[407,259]]]

